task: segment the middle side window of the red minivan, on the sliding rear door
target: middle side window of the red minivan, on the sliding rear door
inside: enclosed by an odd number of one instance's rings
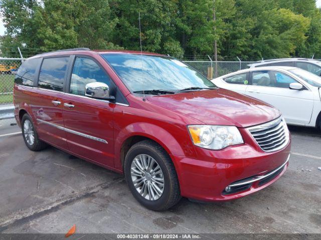
[[[63,91],[69,57],[45,58],[40,68],[38,86]]]

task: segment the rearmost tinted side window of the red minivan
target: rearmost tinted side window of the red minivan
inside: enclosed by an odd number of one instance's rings
[[[15,82],[19,85],[33,86],[36,78],[36,69],[39,63],[40,58],[25,60],[17,71]]]

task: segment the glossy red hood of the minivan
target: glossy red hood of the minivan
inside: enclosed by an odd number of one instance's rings
[[[170,111],[189,116],[192,119],[186,119],[187,124],[247,127],[273,120],[280,115],[277,109],[267,103],[222,88],[152,95],[147,99]]]

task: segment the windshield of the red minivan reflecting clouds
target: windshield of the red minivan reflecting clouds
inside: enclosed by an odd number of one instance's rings
[[[129,53],[102,56],[132,92],[162,90],[174,93],[216,87],[193,67],[173,57]]]

